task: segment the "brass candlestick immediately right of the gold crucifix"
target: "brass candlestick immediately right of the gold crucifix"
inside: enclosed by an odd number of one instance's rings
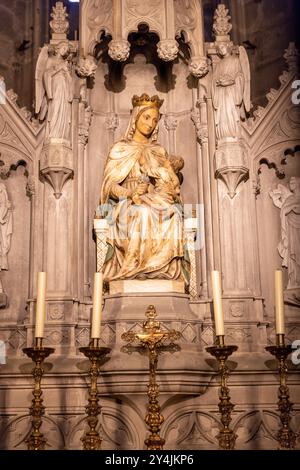
[[[230,428],[231,412],[234,405],[231,403],[229,387],[227,386],[227,379],[229,376],[229,369],[227,367],[227,359],[231,354],[238,349],[237,346],[226,346],[224,343],[224,336],[217,336],[217,344],[206,348],[206,351],[214,356],[219,364],[220,374],[220,401],[218,404],[221,413],[222,428],[220,429],[217,439],[221,449],[230,450],[234,449],[237,434]]]

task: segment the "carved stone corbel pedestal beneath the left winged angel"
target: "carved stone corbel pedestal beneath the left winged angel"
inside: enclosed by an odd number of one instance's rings
[[[73,176],[72,149],[68,142],[52,139],[42,150],[40,172],[54,189],[54,196],[59,199],[65,182]]]

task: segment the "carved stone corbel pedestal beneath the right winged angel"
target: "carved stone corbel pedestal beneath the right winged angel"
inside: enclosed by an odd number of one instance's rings
[[[246,149],[241,141],[222,142],[215,154],[216,178],[227,186],[228,195],[234,198],[238,185],[248,179],[249,168]]]

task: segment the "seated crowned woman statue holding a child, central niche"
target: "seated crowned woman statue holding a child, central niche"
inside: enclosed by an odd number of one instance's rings
[[[100,203],[109,210],[104,280],[170,279],[187,283],[178,171],[158,144],[162,101],[146,94],[132,99],[124,137],[110,150]]]

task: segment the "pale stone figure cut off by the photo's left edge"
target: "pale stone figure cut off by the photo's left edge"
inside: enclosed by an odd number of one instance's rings
[[[7,254],[12,236],[11,204],[4,183],[0,183],[0,271],[8,269]]]

